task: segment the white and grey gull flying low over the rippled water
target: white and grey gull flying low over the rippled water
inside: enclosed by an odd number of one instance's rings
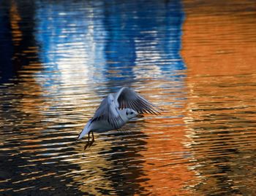
[[[138,116],[138,114],[160,114],[159,110],[161,109],[135,93],[132,88],[122,87],[117,93],[110,93],[102,100],[94,117],[87,122],[80,132],[78,140],[88,134],[88,141],[84,146],[86,150],[94,143],[94,132],[102,133],[121,128],[129,119]],[[90,134],[92,135],[91,141]]]

